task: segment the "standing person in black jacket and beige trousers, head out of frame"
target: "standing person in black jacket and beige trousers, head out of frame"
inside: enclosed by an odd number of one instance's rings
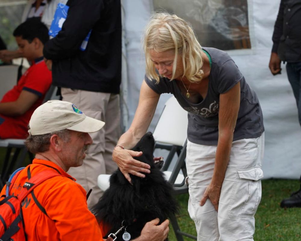
[[[69,0],[67,5],[62,30],[46,43],[44,57],[63,100],[106,122],[101,131],[91,134],[93,144],[84,164],[68,172],[87,192],[93,189],[88,199],[91,207],[102,193],[98,175],[117,168],[112,151],[120,134],[121,6],[120,0]],[[82,51],[82,41],[90,30]]]

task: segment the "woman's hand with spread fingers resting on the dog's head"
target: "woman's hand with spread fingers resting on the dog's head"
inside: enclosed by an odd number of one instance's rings
[[[133,157],[141,156],[142,152],[135,152],[132,150],[122,149],[121,147],[117,146],[113,150],[113,160],[117,163],[120,171],[131,183],[131,177],[129,174],[135,175],[137,177],[145,177],[144,173],[150,173],[149,170],[151,167],[150,165],[143,163],[141,161],[135,160]]]

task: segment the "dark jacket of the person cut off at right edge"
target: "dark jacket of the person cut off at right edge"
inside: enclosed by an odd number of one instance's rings
[[[301,0],[281,0],[272,40],[282,61],[301,61]]]

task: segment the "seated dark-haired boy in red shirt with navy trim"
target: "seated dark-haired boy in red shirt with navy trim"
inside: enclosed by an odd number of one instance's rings
[[[32,18],[21,23],[13,34],[31,66],[0,101],[0,139],[27,137],[30,117],[42,104],[52,81],[43,58],[43,47],[49,40],[47,27]]]

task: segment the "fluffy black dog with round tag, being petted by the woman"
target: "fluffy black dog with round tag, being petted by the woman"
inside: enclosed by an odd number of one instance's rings
[[[112,227],[105,238],[124,225],[126,232],[134,239],[140,236],[147,222],[159,218],[161,224],[170,214],[177,212],[172,186],[160,171],[163,161],[154,161],[154,143],[152,133],[147,132],[132,149],[143,152],[135,159],[149,164],[151,173],[145,174],[144,178],[130,175],[131,185],[118,168],[110,177],[110,188],[92,209],[98,221]],[[116,240],[123,241],[124,233],[123,229]]]

